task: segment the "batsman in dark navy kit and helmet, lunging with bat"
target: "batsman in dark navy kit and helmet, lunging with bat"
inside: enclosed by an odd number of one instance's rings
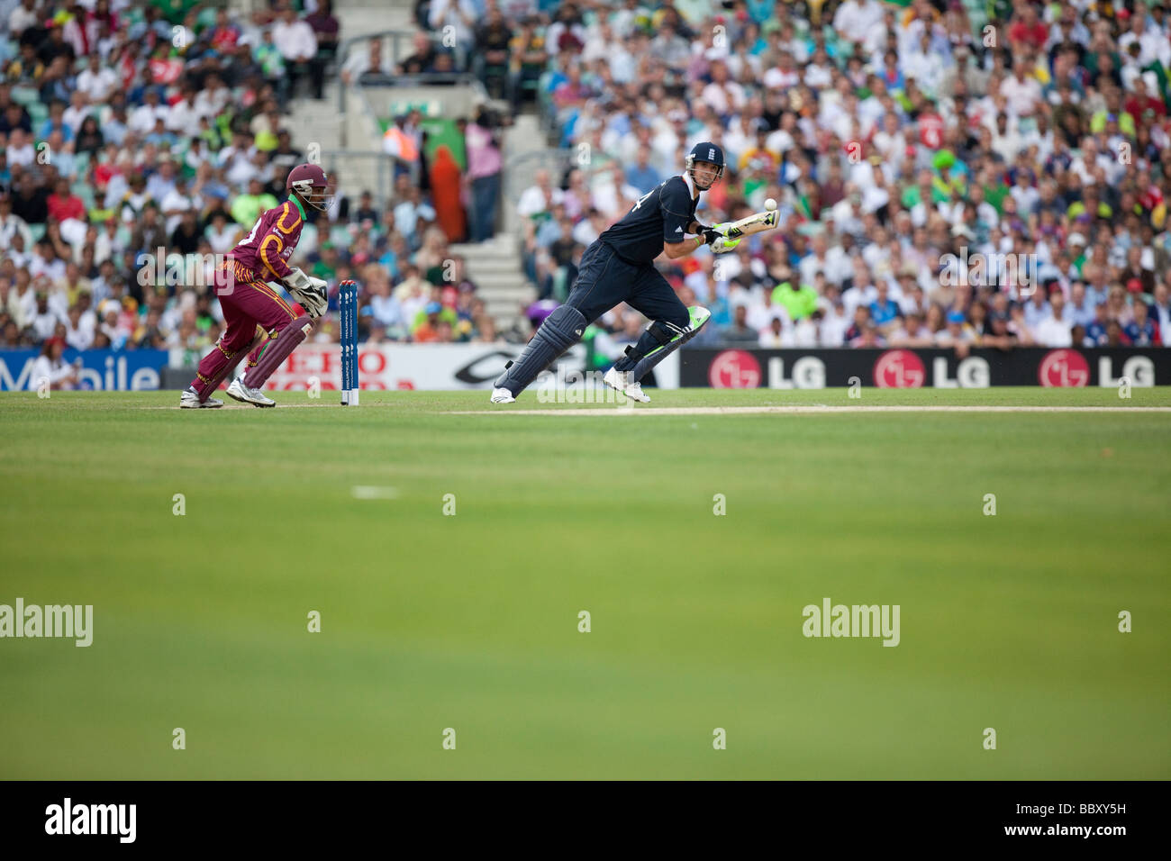
[[[724,176],[724,151],[713,143],[692,148],[682,175],[671,177],[638,198],[614,226],[582,254],[577,280],[566,303],[536,330],[520,356],[505,365],[492,390],[492,403],[507,404],[557,356],[582,337],[586,327],[619,302],[652,322],[626,347],[626,354],[605,373],[603,381],[626,397],[646,402],[642,377],[690,341],[707,322],[706,308],[689,308],[655,268],[663,251],[671,260],[687,257],[704,244],[713,253],[739,244],[724,235],[728,225],[705,227],[696,220],[700,193]],[[687,239],[686,234],[694,234]]]

